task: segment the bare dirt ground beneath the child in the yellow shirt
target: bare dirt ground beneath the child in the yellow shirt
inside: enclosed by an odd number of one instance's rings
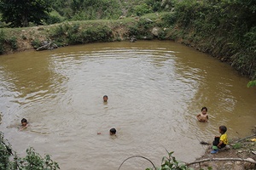
[[[189,167],[193,167],[195,170],[212,169],[212,170],[248,170],[256,169],[256,164],[247,161],[238,161],[239,159],[248,159],[256,161],[256,127],[253,129],[253,134],[244,139],[232,139],[230,144],[225,150],[218,151],[217,154],[211,154],[211,145],[207,147],[207,150],[203,156],[196,161],[203,161],[201,163],[195,163]],[[239,158],[234,161],[214,161],[218,158]],[[211,161],[212,160],[212,161]],[[210,168],[212,167],[212,168]]]

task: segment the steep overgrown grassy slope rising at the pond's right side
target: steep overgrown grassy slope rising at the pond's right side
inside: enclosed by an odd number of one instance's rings
[[[256,78],[255,1],[182,1],[170,18],[175,23],[170,39],[212,54],[241,74]]]

